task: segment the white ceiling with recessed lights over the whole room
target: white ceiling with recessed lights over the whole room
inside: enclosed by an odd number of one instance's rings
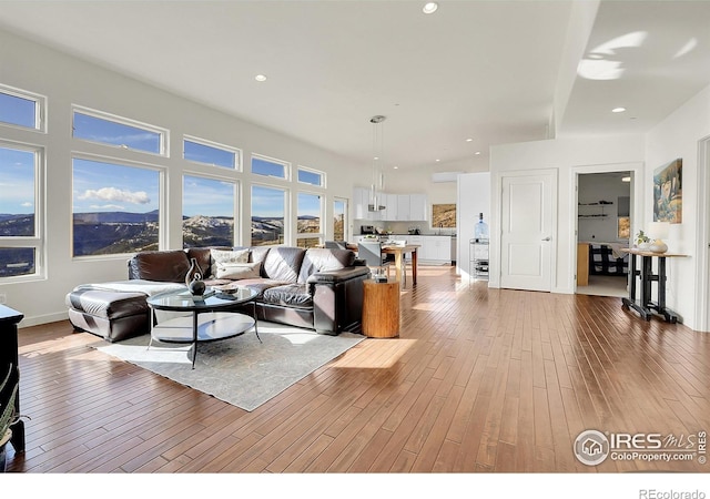
[[[384,114],[400,167],[643,132],[710,84],[710,1],[602,1],[588,40],[571,0],[423,4],[0,0],[0,28],[365,163]]]

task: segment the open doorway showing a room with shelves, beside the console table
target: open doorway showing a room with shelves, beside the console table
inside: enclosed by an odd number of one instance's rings
[[[632,172],[577,179],[577,294],[628,296]]]

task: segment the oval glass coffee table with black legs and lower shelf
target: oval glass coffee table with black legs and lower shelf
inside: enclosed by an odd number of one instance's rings
[[[197,358],[197,343],[233,338],[254,328],[258,337],[256,302],[258,293],[248,287],[231,289],[229,293],[207,291],[202,296],[192,295],[186,288],[149,296],[151,307],[151,347],[153,339],[163,343],[192,343],[192,368]],[[252,316],[243,314],[251,304]],[[190,312],[184,317],[173,317],[158,324],[155,310]]]

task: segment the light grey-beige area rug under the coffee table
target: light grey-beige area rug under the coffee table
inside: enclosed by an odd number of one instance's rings
[[[94,348],[135,364],[252,411],[294,383],[354,347],[364,336],[342,333],[318,335],[273,323],[258,323],[253,330],[234,338],[197,344],[197,359],[192,369],[192,345],[166,344],[140,336]]]

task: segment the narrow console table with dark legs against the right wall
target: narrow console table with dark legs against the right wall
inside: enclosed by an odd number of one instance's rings
[[[678,314],[666,307],[666,258],[678,258],[688,255],[680,255],[677,253],[653,253],[649,251],[625,248],[623,253],[628,253],[630,256],[629,268],[629,297],[621,298],[621,307],[625,309],[633,308],[639,313],[641,318],[646,320],[651,319],[653,310],[662,315],[667,322],[677,323]],[[637,257],[641,258],[641,267],[637,266]],[[653,274],[653,258],[658,258],[658,274]],[[636,277],[641,277],[641,297],[640,301],[636,299]],[[651,299],[651,283],[658,283],[658,301]]]

